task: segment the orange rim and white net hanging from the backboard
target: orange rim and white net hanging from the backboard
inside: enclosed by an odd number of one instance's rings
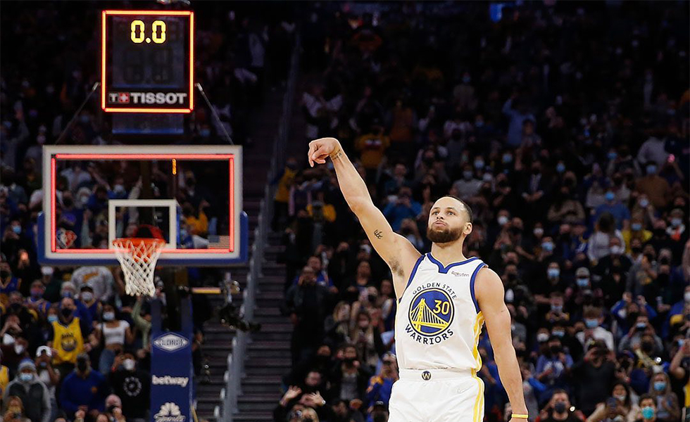
[[[127,295],[156,295],[153,271],[163,245],[165,241],[158,238],[120,238],[113,241],[115,256],[125,274]]]

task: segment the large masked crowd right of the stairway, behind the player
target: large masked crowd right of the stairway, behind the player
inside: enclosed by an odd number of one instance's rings
[[[305,145],[334,136],[420,252],[451,193],[504,282],[529,421],[680,421],[690,404],[687,3],[322,4]],[[305,78],[306,79],[306,78]],[[275,422],[387,421],[387,265],[332,165],[289,158],[274,228],[293,366]],[[510,408],[486,333],[487,421]]]

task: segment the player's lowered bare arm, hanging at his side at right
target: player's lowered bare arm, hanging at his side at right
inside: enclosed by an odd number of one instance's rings
[[[503,301],[504,296],[503,283],[498,274],[487,268],[480,269],[477,273],[477,279],[475,279],[475,297],[479,309],[482,309],[484,320],[487,321],[487,330],[491,339],[491,347],[494,348],[498,374],[501,376],[503,388],[508,393],[513,414],[527,414],[525,395],[522,392],[520,365],[517,364],[513,335],[510,331],[510,312],[508,312],[506,302]],[[525,421],[525,419],[517,418],[512,420],[514,422]]]

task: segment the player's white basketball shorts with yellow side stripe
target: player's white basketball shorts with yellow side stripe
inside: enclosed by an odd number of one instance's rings
[[[401,369],[388,422],[482,422],[484,382],[474,371]]]

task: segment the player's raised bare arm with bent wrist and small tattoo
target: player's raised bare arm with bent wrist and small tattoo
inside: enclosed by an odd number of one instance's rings
[[[401,298],[420,252],[410,241],[391,229],[386,217],[372,202],[367,185],[337,139],[321,138],[309,143],[308,159],[312,167],[315,163],[324,164],[328,157],[333,162],[347,204],[359,219],[376,252],[391,268],[396,295]]]

